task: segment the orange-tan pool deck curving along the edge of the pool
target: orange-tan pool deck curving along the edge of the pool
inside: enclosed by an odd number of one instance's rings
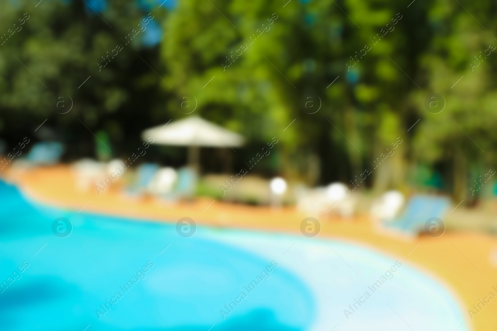
[[[96,190],[79,191],[70,168],[65,165],[4,169],[0,175],[13,184],[15,179],[38,203],[86,212],[162,222],[176,222],[187,216],[197,224],[289,234],[300,234],[300,223],[307,217],[290,207],[274,210],[204,198],[175,204],[159,201],[154,196],[131,199],[120,193],[118,185],[99,196]],[[446,232],[439,238],[402,239],[378,232],[367,217],[349,221],[328,217],[320,221],[322,230],[318,237],[339,238],[371,247],[445,281],[460,298],[464,318],[473,330],[495,330],[497,300],[492,300],[473,319],[468,310],[489,292],[497,295],[492,288],[497,288],[497,265],[491,260],[497,250],[496,237],[476,232]]]

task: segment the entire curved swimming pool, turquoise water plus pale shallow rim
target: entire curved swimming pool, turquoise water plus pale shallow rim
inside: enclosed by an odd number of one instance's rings
[[[411,330],[391,308],[414,330],[469,330],[454,296],[407,264],[346,318],[395,263],[358,245],[208,227],[183,238],[174,223],[38,206],[4,182],[0,201],[6,330]],[[58,217],[68,237],[52,233]]]

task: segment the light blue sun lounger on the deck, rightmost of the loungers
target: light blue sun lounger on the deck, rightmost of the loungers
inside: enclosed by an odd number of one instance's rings
[[[443,220],[449,206],[450,199],[446,197],[414,195],[407,201],[406,209],[400,218],[383,225],[385,229],[416,236],[424,231],[424,224],[429,218],[438,217]]]

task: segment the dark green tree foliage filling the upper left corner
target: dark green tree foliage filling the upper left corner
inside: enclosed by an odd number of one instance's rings
[[[128,153],[140,141],[140,129],[151,122],[149,112],[139,110],[165,97],[158,92],[161,78],[144,62],[160,70],[157,48],[154,52],[142,46],[143,33],[129,44],[123,40],[148,12],[118,0],[98,15],[84,1],[44,0],[35,5],[0,3],[1,33],[19,24],[24,13],[29,17],[0,45],[1,136],[10,143],[26,134],[63,140],[71,145],[66,158],[73,159],[100,154],[92,133],[102,130],[116,147],[114,155]],[[154,19],[161,20],[157,15]],[[123,50],[109,56],[116,45]],[[133,134],[124,140],[122,132]]]

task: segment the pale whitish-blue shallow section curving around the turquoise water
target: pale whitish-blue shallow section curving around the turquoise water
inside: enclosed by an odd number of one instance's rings
[[[221,230],[211,230],[210,235],[263,257],[279,254],[280,265],[298,274],[313,293],[316,314],[309,330],[471,330],[456,294],[402,256],[338,238]],[[395,271],[386,273],[392,266]],[[355,307],[350,309],[352,304]]]

